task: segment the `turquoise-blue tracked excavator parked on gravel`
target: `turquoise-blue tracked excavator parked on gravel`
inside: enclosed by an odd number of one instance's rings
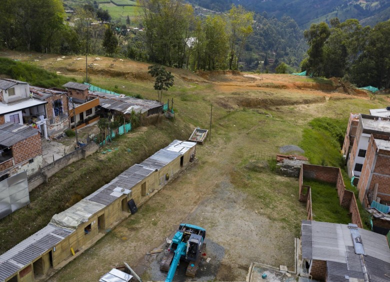
[[[179,225],[160,263],[160,270],[168,272],[165,282],[173,280],[180,259],[188,262],[185,275],[195,277],[201,253],[205,248],[203,243],[205,237],[206,231],[201,227],[191,224]]]

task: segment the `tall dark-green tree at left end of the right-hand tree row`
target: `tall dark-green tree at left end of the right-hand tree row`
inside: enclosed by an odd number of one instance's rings
[[[320,75],[324,63],[323,46],[330,35],[329,26],[325,22],[313,23],[303,34],[309,45],[308,71]]]

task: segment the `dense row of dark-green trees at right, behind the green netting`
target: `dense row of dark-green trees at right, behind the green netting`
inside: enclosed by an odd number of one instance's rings
[[[309,49],[302,70],[316,76],[345,77],[358,86],[390,87],[390,20],[373,28],[338,18],[304,31]]]

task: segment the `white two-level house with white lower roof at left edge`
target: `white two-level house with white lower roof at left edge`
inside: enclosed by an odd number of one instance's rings
[[[0,124],[28,124],[38,128],[42,137],[48,138],[45,104],[47,101],[30,95],[28,83],[0,78]]]

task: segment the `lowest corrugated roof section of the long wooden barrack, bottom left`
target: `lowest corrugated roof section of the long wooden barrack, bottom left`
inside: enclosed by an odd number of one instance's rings
[[[29,265],[61,242],[73,230],[48,224],[46,227],[17,244],[0,256],[0,281],[3,281]]]

